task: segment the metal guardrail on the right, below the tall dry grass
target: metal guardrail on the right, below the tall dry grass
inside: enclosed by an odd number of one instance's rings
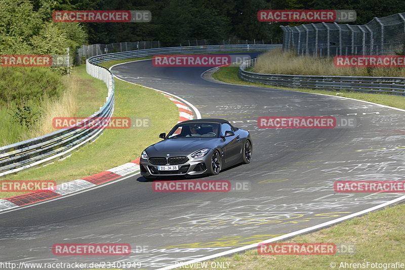
[[[405,78],[401,77],[355,77],[355,76],[311,76],[262,74],[247,71],[257,58],[246,60],[239,66],[239,77],[246,81],[290,88],[349,90],[376,92],[405,96]]]

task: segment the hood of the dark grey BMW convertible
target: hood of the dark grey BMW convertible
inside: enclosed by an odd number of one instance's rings
[[[220,138],[179,138],[160,141],[146,148],[146,153],[151,156],[189,155],[204,148],[215,148],[222,139]]]

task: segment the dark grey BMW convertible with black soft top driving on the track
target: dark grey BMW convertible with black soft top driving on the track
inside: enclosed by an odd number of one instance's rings
[[[238,163],[249,163],[252,139],[249,131],[224,119],[196,119],[178,123],[164,139],[149,146],[140,159],[146,179],[165,175],[218,174]]]

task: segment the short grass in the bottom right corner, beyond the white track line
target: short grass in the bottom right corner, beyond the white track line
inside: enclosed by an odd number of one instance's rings
[[[403,204],[386,207],[383,211],[371,212],[365,216],[281,242],[334,243],[337,246],[352,247],[354,252],[347,252],[349,254],[337,252],[334,255],[260,255],[257,249],[252,249],[232,256],[219,257],[208,261],[208,265],[222,262],[223,265],[229,265],[227,269],[325,270],[367,268],[364,266],[348,267],[344,263],[405,263],[405,253],[403,252],[405,232],[402,230],[405,221],[404,212],[405,205]],[[336,266],[331,267],[331,263],[335,263]],[[385,269],[392,268],[399,267]],[[188,269],[201,268],[188,267]],[[374,269],[384,269],[384,266],[374,267]]]

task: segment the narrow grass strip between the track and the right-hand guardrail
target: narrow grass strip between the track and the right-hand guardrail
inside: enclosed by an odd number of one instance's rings
[[[242,85],[253,85],[267,88],[283,89],[283,90],[292,90],[297,92],[306,92],[306,93],[316,93],[316,94],[325,94],[331,96],[340,96],[351,99],[364,100],[369,102],[374,102],[386,106],[391,106],[395,108],[405,109],[405,97],[386,95],[386,94],[369,94],[369,93],[356,93],[348,91],[326,91],[319,89],[307,89],[307,88],[285,88],[277,87],[268,84],[254,83],[249,81],[244,81],[238,77],[238,67],[221,67],[219,71],[213,74],[213,78],[227,83],[242,84]]]

